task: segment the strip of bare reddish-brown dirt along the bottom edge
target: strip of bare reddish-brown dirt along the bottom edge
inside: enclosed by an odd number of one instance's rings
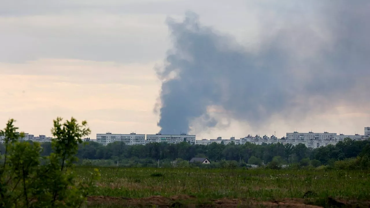
[[[176,195],[172,197],[151,196],[145,198],[124,198],[124,197],[102,197],[93,196],[88,197],[88,205],[104,204],[104,205],[121,205],[123,207],[215,207],[215,208],[232,208],[232,207],[299,207],[299,208],[319,208],[310,199],[299,198],[285,198],[275,201],[256,201],[253,199],[216,199],[208,202],[200,202],[195,196],[192,195]],[[370,201],[356,202],[344,201],[333,198],[322,199],[321,202],[327,203],[333,207],[369,207]],[[326,207],[325,204],[320,206]]]

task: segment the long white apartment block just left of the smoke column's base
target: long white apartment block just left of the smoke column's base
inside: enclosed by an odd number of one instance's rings
[[[96,134],[96,142],[102,145],[107,145],[116,141],[123,141],[127,145],[145,145],[145,134],[112,134],[110,132],[107,132],[105,134]]]

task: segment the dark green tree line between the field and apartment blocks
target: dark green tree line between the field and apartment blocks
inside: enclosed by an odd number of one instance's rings
[[[51,143],[44,142],[42,155],[50,155]],[[170,162],[175,160],[189,161],[193,157],[206,157],[211,162],[236,161],[246,164],[268,164],[279,160],[280,164],[307,163],[314,166],[329,165],[335,161],[355,158],[370,147],[370,140],[355,141],[346,138],[336,145],[320,148],[307,148],[304,144],[265,144],[256,145],[247,142],[243,145],[217,144],[191,145],[187,142],[179,144],[149,143],[146,145],[126,145],[124,142],[113,142],[103,146],[97,142],[87,141],[78,147],[77,157],[83,160],[109,160],[111,163],[148,163],[155,164],[158,160]],[[1,151],[0,146],[0,151]]]

